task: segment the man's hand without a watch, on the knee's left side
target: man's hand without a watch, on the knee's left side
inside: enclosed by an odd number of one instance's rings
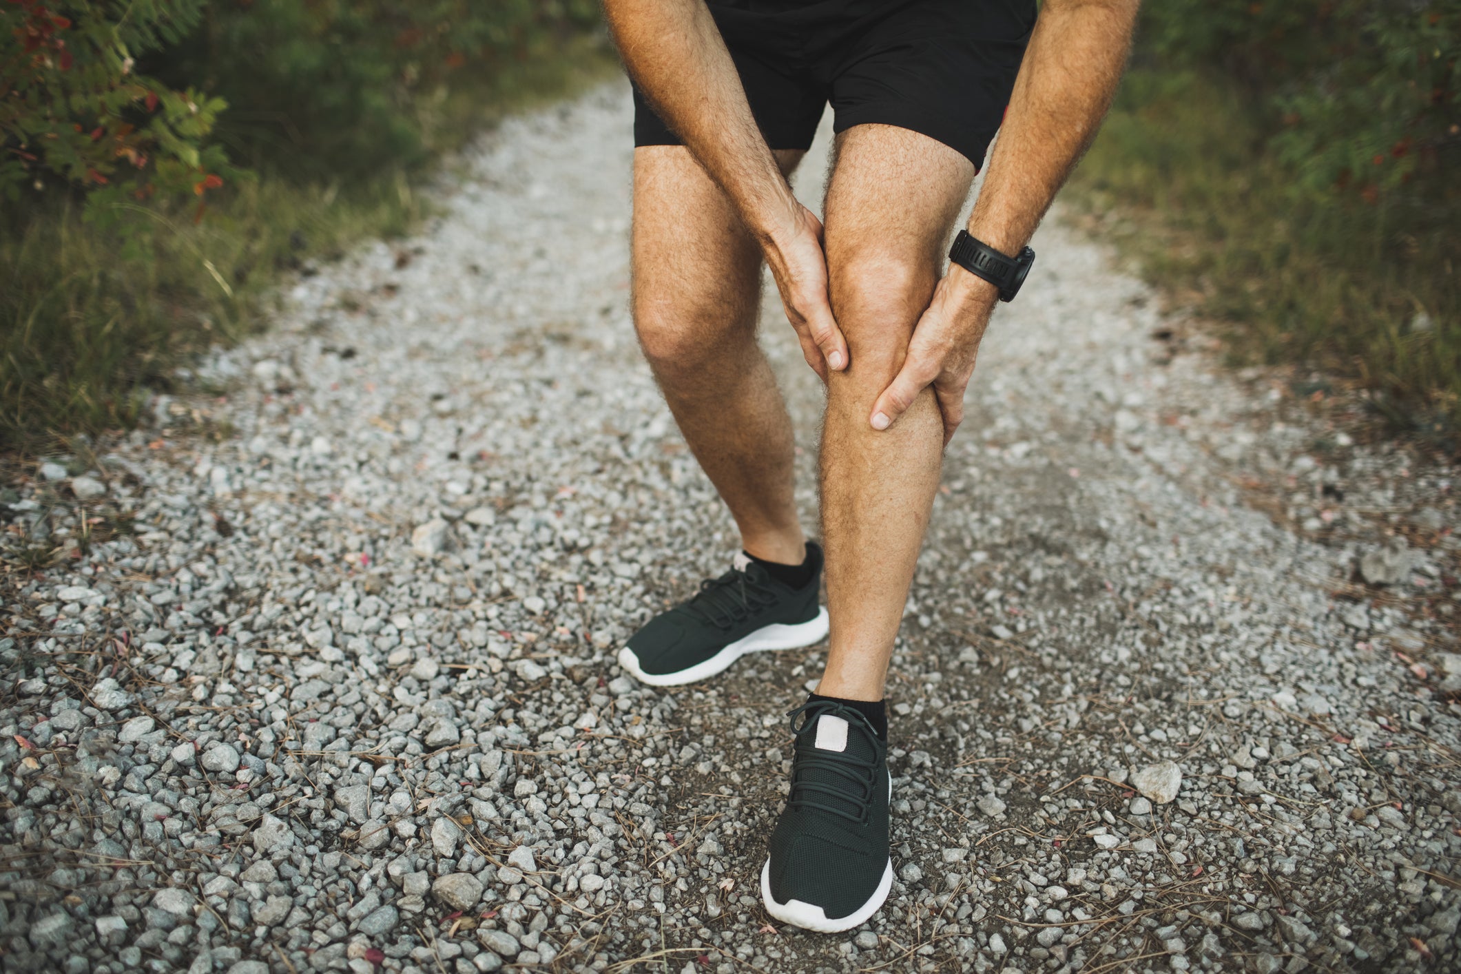
[[[827,371],[847,368],[847,342],[827,298],[827,256],[821,221],[801,203],[785,229],[767,235],[766,263],[782,292],[786,318],[796,329],[806,364],[827,381]]]

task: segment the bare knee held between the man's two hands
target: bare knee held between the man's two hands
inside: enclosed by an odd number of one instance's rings
[[[877,253],[833,269],[831,307],[847,339],[852,359],[847,375],[853,384],[881,390],[897,374],[934,283],[934,269]]]

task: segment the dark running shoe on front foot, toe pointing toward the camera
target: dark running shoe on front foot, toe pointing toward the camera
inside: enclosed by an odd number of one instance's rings
[[[805,714],[802,726],[796,717]],[[767,913],[818,933],[866,923],[888,898],[888,746],[868,718],[836,701],[790,714],[792,793],[761,866]]]

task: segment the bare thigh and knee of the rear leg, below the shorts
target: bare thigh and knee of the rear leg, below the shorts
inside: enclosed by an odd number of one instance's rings
[[[790,172],[804,155],[779,150]],[[682,146],[634,150],[633,307],[646,349],[656,336],[700,339],[754,329],[761,251],[730,200]]]

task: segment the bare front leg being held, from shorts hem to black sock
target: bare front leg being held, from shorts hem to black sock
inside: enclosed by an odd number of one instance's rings
[[[903,364],[973,177],[963,155],[906,129],[853,126],[837,140],[827,269],[852,362],[830,378],[821,451],[828,697],[882,699],[944,432],[931,388],[885,432],[868,415]]]

